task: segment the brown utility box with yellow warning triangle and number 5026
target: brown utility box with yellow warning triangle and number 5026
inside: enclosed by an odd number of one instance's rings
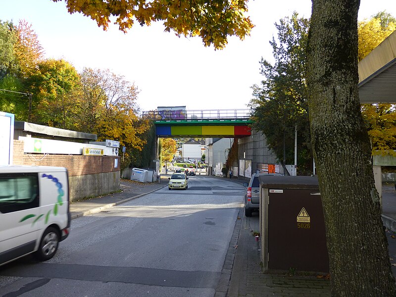
[[[264,272],[328,272],[318,179],[260,176],[261,258]]]

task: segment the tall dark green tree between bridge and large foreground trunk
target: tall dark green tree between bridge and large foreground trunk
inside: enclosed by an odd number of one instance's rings
[[[275,24],[278,40],[270,41],[275,64],[261,59],[261,86],[254,85],[250,101],[253,128],[262,131],[268,147],[281,163],[294,162],[295,128],[299,173],[309,173],[311,147],[305,81],[306,42],[309,20],[297,12]]]

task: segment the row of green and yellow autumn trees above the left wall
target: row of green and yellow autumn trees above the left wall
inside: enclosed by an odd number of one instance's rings
[[[0,110],[18,121],[93,133],[127,148],[121,165],[149,166],[152,124],[138,116],[139,89],[108,69],[78,72],[63,59],[45,59],[32,26],[0,21]],[[149,142],[149,143],[148,143]],[[138,154],[138,156],[136,156]]]

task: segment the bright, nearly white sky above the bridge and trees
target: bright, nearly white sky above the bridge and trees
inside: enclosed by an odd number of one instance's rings
[[[69,14],[63,1],[0,0],[0,20],[32,24],[47,58],[63,58],[78,71],[109,69],[134,82],[141,110],[181,105],[188,110],[244,109],[253,98],[250,87],[263,79],[261,57],[273,61],[274,23],[293,11],[310,17],[311,1],[249,0],[248,9],[255,25],[250,36],[229,38],[223,50],[205,48],[197,37],[164,32],[158,22],[135,25],[126,34],[115,25],[103,31],[82,14]],[[396,17],[396,1],[360,0],[358,19],[383,10]]]

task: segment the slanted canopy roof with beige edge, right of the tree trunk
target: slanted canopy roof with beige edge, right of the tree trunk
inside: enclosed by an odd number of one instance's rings
[[[396,103],[396,31],[358,63],[360,103]]]

